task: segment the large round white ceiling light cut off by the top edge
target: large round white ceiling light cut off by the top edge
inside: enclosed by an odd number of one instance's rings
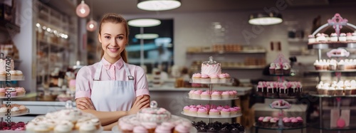
[[[137,8],[147,11],[164,11],[177,9],[180,0],[138,0]]]

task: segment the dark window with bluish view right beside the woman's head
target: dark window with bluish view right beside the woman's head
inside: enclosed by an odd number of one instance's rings
[[[142,39],[144,65],[147,67],[147,73],[152,73],[152,68],[157,68],[158,65],[166,71],[169,66],[174,64],[173,19],[160,19],[159,21],[161,21],[159,25],[144,27],[142,32],[140,27],[129,26],[129,45],[126,46],[128,61],[140,65]]]

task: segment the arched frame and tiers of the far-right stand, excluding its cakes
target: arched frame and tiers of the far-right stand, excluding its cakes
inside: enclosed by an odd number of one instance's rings
[[[323,31],[325,28],[328,27],[333,27],[335,28],[335,33],[337,33],[337,37],[340,36],[340,30],[342,27],[347,27],[347,28],[352,28],[352,30],[356,29],[356,26],[347,23],[347,19],[342,18],[340,14],[335,14],[333,18],[328,20],[328,23],[325,23],[323,26],[320,26],[312,35],[315,36],[317,33],[320,31]],[[308,48],[309,49],[317,49],[318,50],[318,60],[322,58],[322,50],[323,49],[331,49],[331,48],[356,48],[356,41],[336,41],[336,42],[315,42],[315,43],[308,43]],[[336,58],[336,59],[341,59],[344,58],[342,56],[329,56],[330,58]],[[312,70],[311,72],[315,73],[335,73],[335,76],[337,76],[337,80],[340,80],[342,77],[342,73],[356,73],[356,70]],[[321,81],[320,75],[319,75],[319,81]],[[340,110],[340,104],[341,104],[341,99],[342,98],[347,98],[347,97],[356,97],[356,95],[320,95],[318,92],[310,92],[309,93],[311,96],[318,97],[319,98],[319,121],[316,124],[310,124],[311,127],[315,127],[316,129],[320,129],[320,133],[323,132],[323,130],[333,130],[333,131],[356,131],[356,124],[354,122],[355,119],[350,119],[350,125],[348,127],[331,127],[330,126],[330,121],[323,119],[323,98],[335,98],[337,107],[335,108],[336,110]],[[351,117],[351,116],[350,116]]]

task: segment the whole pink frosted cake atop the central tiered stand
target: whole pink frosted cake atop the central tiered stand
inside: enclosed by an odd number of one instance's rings
[[[221,64],[216,63],[210,56],[209,61],[201,63],[201,75],[220,75],[221,74]]]

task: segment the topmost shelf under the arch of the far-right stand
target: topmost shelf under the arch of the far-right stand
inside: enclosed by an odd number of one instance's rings
[[[356,48],[355,41],[344,41],[344,42],[319,42],[319,43],[308,43],[308,49],[328,49],[328,48]]]

